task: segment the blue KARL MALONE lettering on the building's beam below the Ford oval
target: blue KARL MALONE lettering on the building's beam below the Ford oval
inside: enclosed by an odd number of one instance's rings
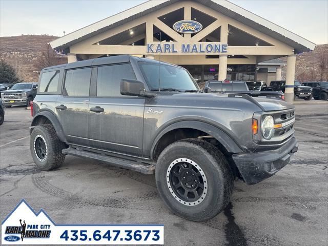
[[[227,53],[228,45],[221,43],[180,44],[177,42],[149,43],[147,53],[220,54]]]

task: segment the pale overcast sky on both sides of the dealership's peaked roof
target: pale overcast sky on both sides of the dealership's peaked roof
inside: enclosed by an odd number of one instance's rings
[[[0,0],[0,36],[62,36],[124,11],[142,0]],[[315,44],[328,43],[328,0],[231,0]]]

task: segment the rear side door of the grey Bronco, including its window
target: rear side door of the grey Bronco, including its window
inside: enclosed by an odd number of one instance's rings
[[[63,94],[57,98],[56,113],[70,144],[89,144],[88,104],[91,71],[92,68],[66,70]]]

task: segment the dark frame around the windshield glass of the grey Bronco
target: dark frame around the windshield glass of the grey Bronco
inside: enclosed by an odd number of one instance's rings
[[[151,84],[149,83],[148,78],[147,78],[147,76],[146,76],[146,73],[145,73],[144,69],[142,68],[141,64],[150,64],[150,65],[155,65],[155,66],[168,66],[168,67],[173,67],[173,68],[175,68],[175,69],[184,70],[184,71],[187,72],[187,74],[188,74],[189,78],[191,79],[193,85],[196,87],[195,89],[191,89],[191,88],[190,88],[190,89],[186,89],[186,90],[185,90],[185,89],[181,89],[181,88],[176,88],[176,87],[174,87],[173,89],[177,89],[177,90],[179,90],[179,91],[181,91],[181,92],[178,92],[178,91],[167,91],[167,90],[165,90],[165,92],[171,92],[171,93],[184,93],[185,91],[188,91],[188,90],[199,90],[199,91],[201,91],[200,87],[198,86],[198,84],[197,84],[197,82],[195,81],[195,79],[193,78],[193,76],[191,76],[191,74],[189,73],[189,71],[188,71],[187,69],[183,68],[183,67],[176,66],[176,65],[172,65],[172,64],[168,64],[168,63],[160,63],[160,62],[158,62],[158,63],[152,63],[152,62],[148,62],[148,61],[138,61],[138,62],[137,62],[137,65],[138,65],[138,67],[139,67],[139,70],[141,71],[141,74],[142,74],[142,76],[144,77],[145,83],[147,84],[147,86],[148,86],[148,88],[149,88],[149,90],[150,90],[151,92],[156,92],[156,90],[158,90],[158,87],[157,87],[157,88],[153,88],[153,87],[151,86]],[[169,89],[169,88],[172,88],[172,87],[167,87],[167,88],[166,88],[166,87],[162,87],[162,86],[160,86],[160,89]]]

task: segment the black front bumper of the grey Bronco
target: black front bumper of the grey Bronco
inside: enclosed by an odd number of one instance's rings
[[[293,137],[279,149],[258,153],[233,154],[232,158],[244,181],[248,185],[253,185],[271,177],[286,166],[297,150],[298,143]]]

